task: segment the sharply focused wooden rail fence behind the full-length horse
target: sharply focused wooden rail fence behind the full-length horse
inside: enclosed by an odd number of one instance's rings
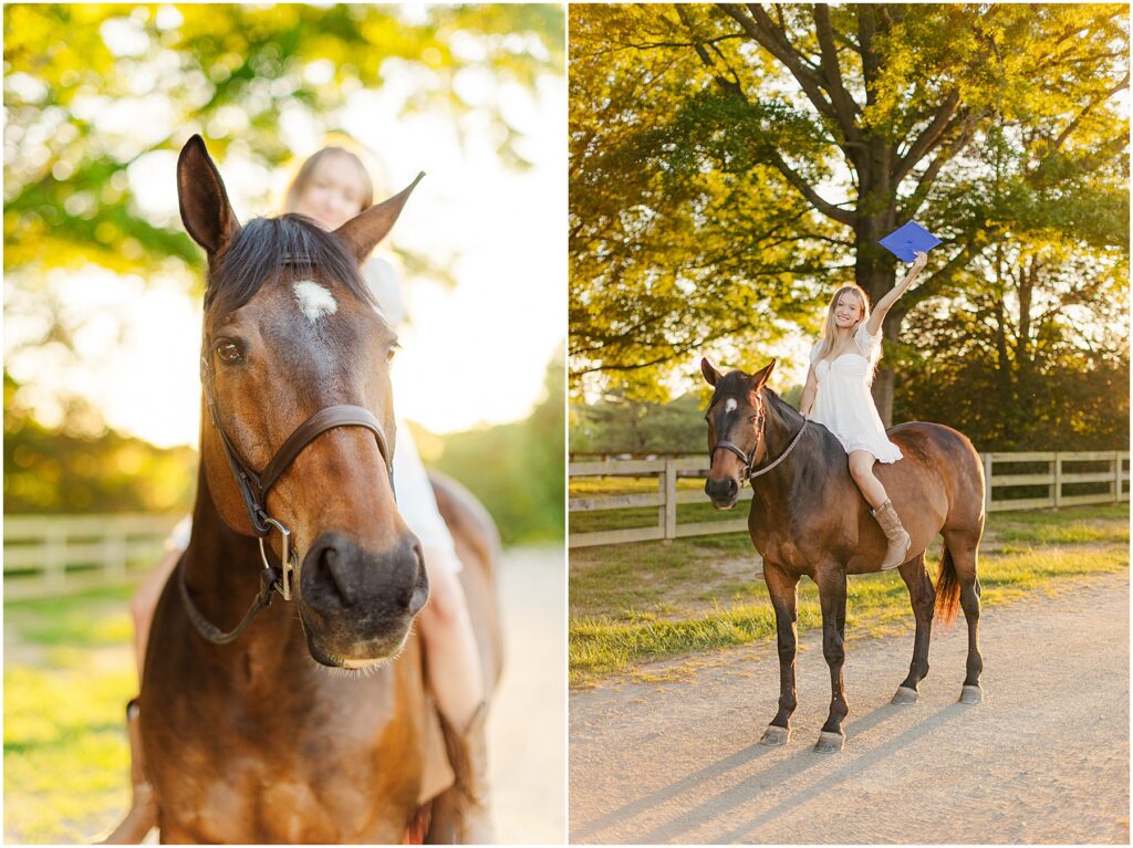
[[[982,454],[985,498],[988,512],[1003,509],[1057,508],[1079,504],[1107,504],[1128,500],[1130,455],[1127,451],[1090,451],[1075,453],[987,453]],[[1082,470],[1083,464],[1107,463],[1104,471]],[[1043,466],[1041,471],[1028,469],[1016,473],[1013,465]],[[1000,469],[997,473],[997,469]],[[631,509],[656,507],[657,523],[621,530],[596,530],[568,534],[570,547],[582,548],[593,545],[619,545],[622,542],[653,539],[680,539],[687,536],[729,533],[747,530],[748,517],[725,519],[680,523],[676,520],[679,504],[708,503],[704,491],[679,490],[679,477],[704,479],[708,472],[706,456],[679,456],[654,460],[603,460],[600,462],[572,462],[569,465],[570,480],[605,477],[656,477],[656,491],[623,495],[594,495],[570,498],[572,515],[608,509]],[[1066,487],[1091,483],[1091,492],[1067,494]],[[1029,487],[1025,496],[1007,497],[1006,487]],[[1038,489],[1045,489],[1039,496]],[[1081,488],[1081,487],[1076,487]],[[743,488],[741,500],[751,499],[751,489]]]

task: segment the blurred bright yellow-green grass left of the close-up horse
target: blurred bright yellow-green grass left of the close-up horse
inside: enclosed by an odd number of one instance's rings
[[[129,805],[130,591],[5,603],[6,842],[87,842]]]

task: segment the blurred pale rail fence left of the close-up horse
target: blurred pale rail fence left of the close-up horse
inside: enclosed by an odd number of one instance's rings
[[[6,515],[6,600],[122,582],[153,566],[181,515]]]

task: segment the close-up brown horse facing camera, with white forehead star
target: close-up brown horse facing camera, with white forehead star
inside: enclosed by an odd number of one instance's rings
[[[428,585],[390,474],[395,340],[359,264],[412,186],[330,233],[295,215],[241,228],[198,136],[177,175],[208,286],[193,537],[140,694],[162,841],[400,842],[432,709],[410,629]],[[495,528],[459,486],[436,488],[491,691]],[[273,590],[293,603],[265,607]],[[433,840],[459,834],[454,806],[434,804]]]

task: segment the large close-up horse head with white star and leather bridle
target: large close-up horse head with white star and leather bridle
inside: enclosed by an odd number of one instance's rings
[[[397,653],[428,598],[391,476],[397,339],[360,273],[417,180],[333,232],[300,215],[241,226],[199,136],[177,163],[181,220],[208,259],[202,482],[229,529],[259,538],[267,573],[274,551],[326,666]]]

